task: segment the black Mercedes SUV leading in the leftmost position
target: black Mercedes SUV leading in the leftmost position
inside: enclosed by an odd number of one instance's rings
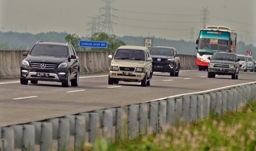
[[[37,42],[23,53],[20,84],[38,81],[61,82],[63,87],[78,86],[79,60],[70,43]]]

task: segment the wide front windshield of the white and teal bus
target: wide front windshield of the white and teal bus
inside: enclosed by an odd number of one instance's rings
[[[228,51],[228,40],[200,38],[198,43],[198,51],[206,52],[208,50]]]

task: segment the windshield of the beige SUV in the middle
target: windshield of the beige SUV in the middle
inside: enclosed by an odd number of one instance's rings
[[[145,61],[145,55],[143,50],[118,49],[114,59]]]

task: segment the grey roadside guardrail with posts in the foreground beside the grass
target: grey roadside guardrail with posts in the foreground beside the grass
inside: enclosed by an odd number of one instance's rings
[[[0,150],[81,150],[86,142],[104,137],[108,143],[120,138],[172,129],[174,124],[209,118],[210,112],[237,112],[256,98],[256,84],[230,86],[199,94],[167,97],[91,112],[1,127]],[[55,145],[54,145],[55,144]]]

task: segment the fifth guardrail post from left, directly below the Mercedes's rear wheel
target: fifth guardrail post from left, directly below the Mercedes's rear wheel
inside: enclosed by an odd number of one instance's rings
[[[74,150],[82,150],[85,143],[85,117],[83,115],[76,115],[75,116],[75,143],[74,143]]]

